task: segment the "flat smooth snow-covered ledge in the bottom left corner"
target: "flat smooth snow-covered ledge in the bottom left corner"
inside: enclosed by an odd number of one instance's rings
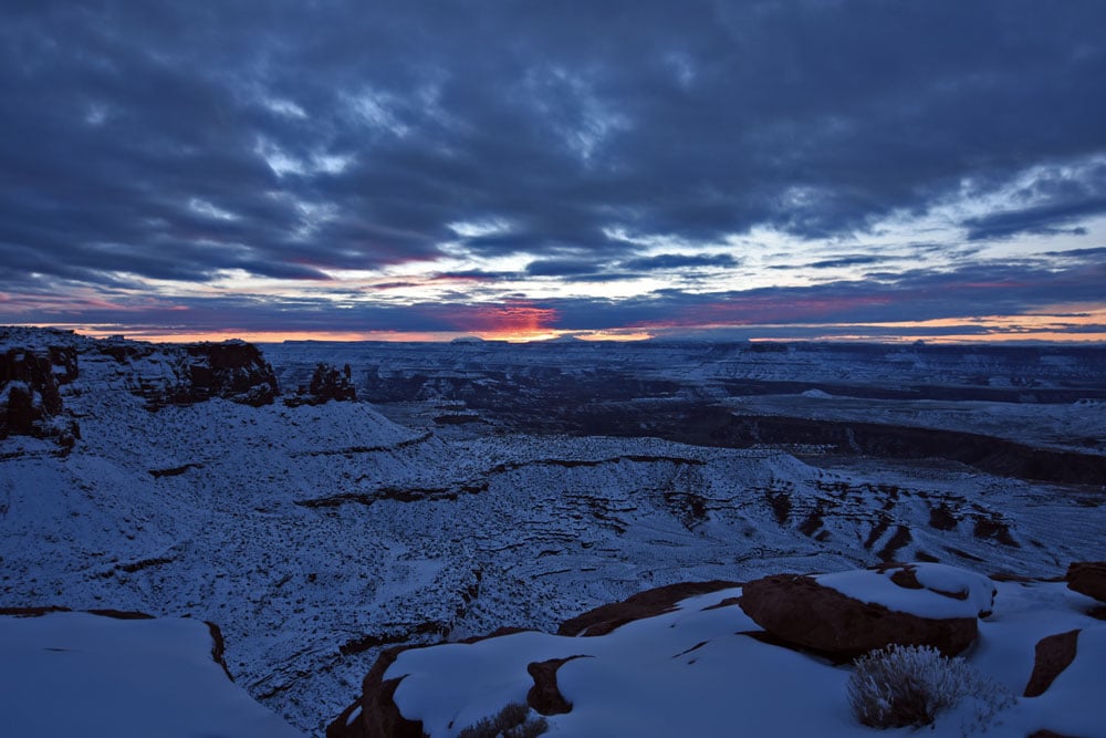
[[[0,616],[6,736],[295,738],[212,658],[195,620]]]

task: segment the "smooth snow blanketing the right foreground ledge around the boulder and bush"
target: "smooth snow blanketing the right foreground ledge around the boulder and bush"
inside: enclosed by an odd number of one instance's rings
[[[987,581],[980,588],[985,578],[971,572],[918,571],[919,580],[951,584],[967,597],[946,597],[950,604],[935,609],[930,590],[896,585],[887,572],[822,581],[866,602],[890,599],[936,617],[962,615],[958,602],[974,611],[979,597],[994,592],[993,611],[979,621],[979,635],[963,654],[983,686],[939,713],[926,735],[1106,736],[1106,625],[1088,614],[1094,600],[1060,582]],[[964,590],[954,589],[961,584]],[[862,725],[847,699],[854,667],[775,642],[743,612],[741,596],[740,586],[698,594],[594,637],[589,631],[575,637],[522,632],[389,653],[331,735],[457,736],[512,703],[541,709],[556,736],[915,735],[912,727],[876,731]],[[1042,693],[1023,696],[1036,644],[1073,630],[1079,631],[1074,659]],[[561,699],[550,701],[551,690]]]

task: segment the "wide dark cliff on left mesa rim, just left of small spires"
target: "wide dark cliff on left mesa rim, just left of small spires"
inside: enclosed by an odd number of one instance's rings
[[[165,350],[173,364],[170,381],[154,383],[139,377],[138,394],[146,398],[150,409],[190,405],[212,397],[259,407],[271,404],[280,394],[272,366],[253,344],[188,343]]]

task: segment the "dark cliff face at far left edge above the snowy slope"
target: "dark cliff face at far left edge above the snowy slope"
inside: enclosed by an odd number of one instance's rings
[[[71,347],[14,347],[0,353],[0,438],[54,438],[72,447],[81,429],[64,415],[59,386],[76,377],[76,351]]]

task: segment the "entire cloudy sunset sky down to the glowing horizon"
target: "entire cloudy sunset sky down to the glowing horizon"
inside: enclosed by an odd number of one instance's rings
[[[0,10],[0,323],[1106,341],[1100,0]]]

